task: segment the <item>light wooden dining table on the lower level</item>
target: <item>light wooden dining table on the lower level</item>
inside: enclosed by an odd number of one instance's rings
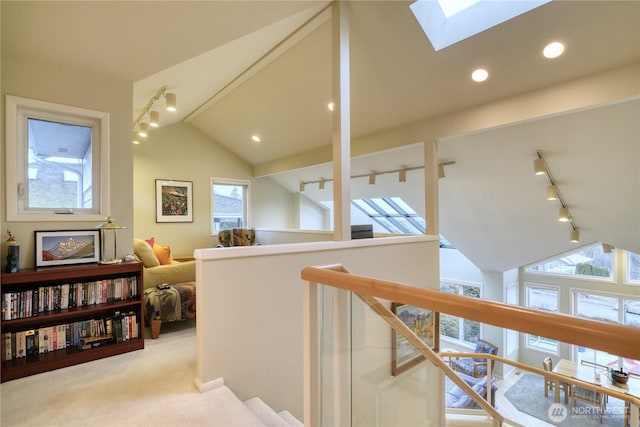
[[[606,369],[598,366],[573,362],[567,359],[560,359],[558,364],[553,368],[553,372],[580,381],[597,384],[605,389],[615,390],[620,393],[640,398],[640,379],[635,377],[629,377],[627,384],[613,383]],[[558,388],[558,383],[559,380],[556,380],[554,397],[556,403],[560,403],[560,390]],[[630,421],[632,427],[638,427],[638,414],[638,407],[631,405]]]

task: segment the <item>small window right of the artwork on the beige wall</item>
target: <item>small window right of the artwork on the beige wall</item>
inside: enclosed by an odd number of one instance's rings
[[[249,181],[211,179],[211,234],[248,227]]]

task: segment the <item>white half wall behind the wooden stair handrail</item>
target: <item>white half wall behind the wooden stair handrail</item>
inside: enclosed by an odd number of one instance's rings
[[[437,288],[437,251],[433,236],[196,250],[196,382],[224,377],[241,399],[261,396],[302,419],[302,268],[340,263],[354,274]],[[353,355],[354,410],[366,413],[372,395],[393,393],[390,335],[377,333],[369,314],[352,321],[354,336],[366,336]],[[423,411],[435,398],[426,397],[417,397]]]

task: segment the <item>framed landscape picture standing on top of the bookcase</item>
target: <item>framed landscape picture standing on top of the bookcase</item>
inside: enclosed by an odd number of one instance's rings
[[[35,231],[36,267],[100,261],[100,230]]]

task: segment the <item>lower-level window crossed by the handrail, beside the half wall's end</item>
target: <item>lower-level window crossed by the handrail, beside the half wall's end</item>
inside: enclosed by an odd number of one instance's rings
[[[440,290],[452,294],[467,297],[480,298],[480,285],[473,283],[452,282],[442,280]],[[480,338],[480,322],[467,320],[449,314],[440,315],[440,336],[460,341],[466,344],[473,344]]]

